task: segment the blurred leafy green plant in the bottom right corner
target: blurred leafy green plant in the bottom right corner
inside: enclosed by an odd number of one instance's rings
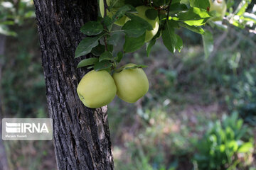
[[[236,169],[250,164],[254,140],[238,114],[223,116],[196,144],[194,155],[198,169]]]

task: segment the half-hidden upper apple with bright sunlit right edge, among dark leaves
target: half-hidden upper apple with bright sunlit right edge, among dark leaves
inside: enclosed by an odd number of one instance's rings
[[[134,15],[139,16],[140,18],[143,18],[146,20],[152,27],[153,30],[146,30],[146,38],[145,42],[149,42],[154,35],[156,35],[157,31],[159,30],[159,17],[157,16],[154,20],[151,20],[146,17],[146,10],[151,9],[149,6],[137,6],[136,10],[138,13],[134,13]],[[126,21],[129,21],[130,19],[127,17]]]

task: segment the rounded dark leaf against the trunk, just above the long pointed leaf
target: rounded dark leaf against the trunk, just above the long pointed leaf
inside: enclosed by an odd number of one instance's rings
[[[80,31],[85,35],[92,36],[102,33],[103,26],[99,21],[89,21],[82,26]]]

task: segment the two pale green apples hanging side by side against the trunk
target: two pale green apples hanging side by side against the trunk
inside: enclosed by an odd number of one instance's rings
[[[78,96],[87,108],[100,108],[109,104],[117,94],[128,103],[134,103],[149,90],[149,81],[141,68],[136,64],[126,64],[121,72],[115,72],[113,77],[109,72],[92,70],[82,77],[78,84]]]

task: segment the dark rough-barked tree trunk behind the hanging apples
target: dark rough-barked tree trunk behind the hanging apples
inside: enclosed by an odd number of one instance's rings
[[[80,27],[97,18],[97,0],[34,4],[58,169],[114,169],[107,107],[86,108],[76,92],[88,70],[76,69],[75,48]]]

